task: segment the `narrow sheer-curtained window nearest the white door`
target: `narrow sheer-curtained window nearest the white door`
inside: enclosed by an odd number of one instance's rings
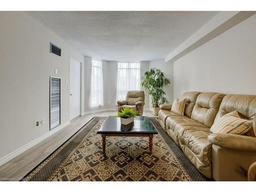
[[[92,59],[91,102],[92,107],[103,106],[102,61]]]

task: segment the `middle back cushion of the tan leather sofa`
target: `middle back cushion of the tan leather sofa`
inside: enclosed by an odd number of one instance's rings
[[[215,117],[224,96],[225,95],[222,93],[200,93],[193,108],[191,119],[211,127],[211,125],[214,124]]]

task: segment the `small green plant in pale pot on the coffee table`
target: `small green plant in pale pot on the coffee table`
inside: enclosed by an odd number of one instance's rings
[[[134,121],[134,117],[139,115],[139,111],[125,107],[122,112],[118,112],[117,116],[121,119],[121,124],[127,125]]]

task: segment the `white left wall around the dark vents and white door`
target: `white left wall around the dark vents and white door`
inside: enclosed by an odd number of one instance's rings
[[[0,26],[1,159],[49,133],[51,75],[62,79],[61,123],[70,120],[70,57],[82,63],[84,57],[24,12],[0,12]],[[61,47],[61,57],[49,53],[50,42]],[[36,126],[39,119],[45,124]]]

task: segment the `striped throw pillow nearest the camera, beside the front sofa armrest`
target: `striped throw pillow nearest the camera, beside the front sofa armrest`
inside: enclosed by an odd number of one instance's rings
[[[251,129],[252,121],[241,119],[237,111],[223,115],[211,127],[212,133],[229,133],[244,135]]]

